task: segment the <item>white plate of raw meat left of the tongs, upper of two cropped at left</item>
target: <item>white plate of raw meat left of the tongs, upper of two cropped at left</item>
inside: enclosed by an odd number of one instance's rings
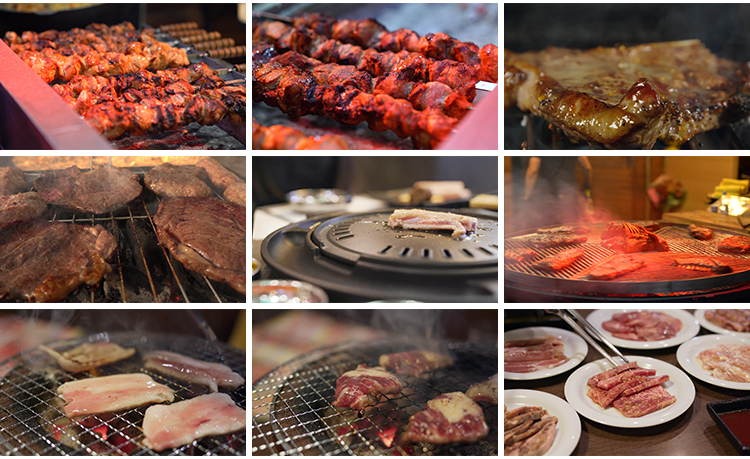
[[[549,378],[550,376],[559,375],[561,373],[565,373],[568,370],[571,370],[575,367],[577,367],[581,362],[583,362],[583,359],[586,358],[586,354],[589,352],[589,347],[586,344],[586,341],[583,340],[580,336],[573,332],[569,332],[568,330],[563,330],[562,328],[555,328],[555,327],[529,327],[529,328],[519,328],[517,330],[512,330],[507,333],[503,334],[503,341],[515,341],[518,339],[531,339],[531,338],[544,338],[545,336],[557,336],[561,338],[564,342],[565,351],[563,352],[565,354],[565,357],[567,357],[567,362],[563,363],[562,365],[550,368],[548,370],[538,370],[538,371],[532,371],[531,373],[512,373],[509,371],[503,372],[503,377],[505,379],[515,379],[515,380],[527,380],[527,379],[542,379],[542,378]]]

